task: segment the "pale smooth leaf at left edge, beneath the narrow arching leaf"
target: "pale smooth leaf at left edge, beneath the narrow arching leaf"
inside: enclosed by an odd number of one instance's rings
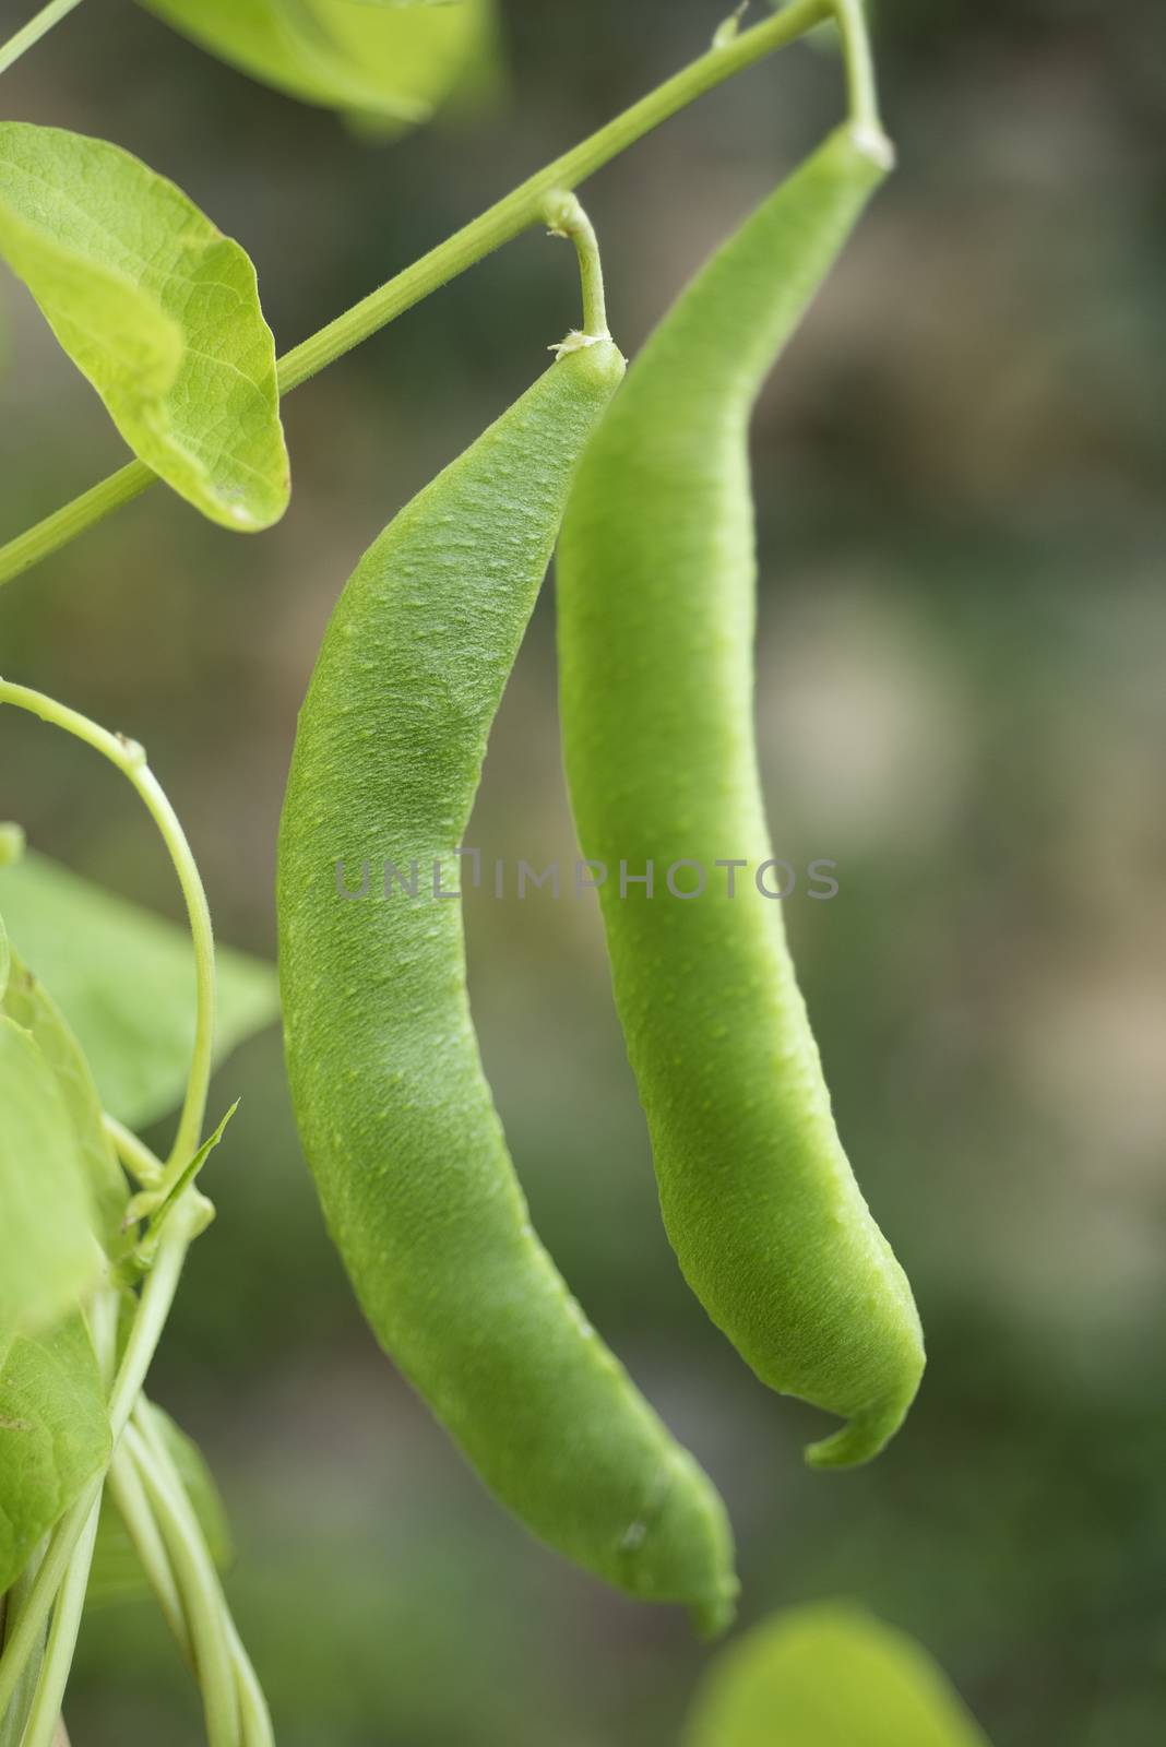
[[[0,1336],[44,1328],[101,1253],[73,1123],[35,1038],[0,1015]]]

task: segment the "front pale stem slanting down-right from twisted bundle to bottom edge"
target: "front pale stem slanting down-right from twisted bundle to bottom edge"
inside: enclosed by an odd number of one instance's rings
[[[159,1445],[152,1410],[147,1401],[140,1401],[126,1431],[126,1450],[150,1497],[182,1590],[202,1693],[208,1747],[237,1747],[239,1700],[230,1644],[223,1628],[225,1602],[202,1534],[197,1522],[192,1522],[194,1511],[185,1495],[171,1485],[159,1459]]]

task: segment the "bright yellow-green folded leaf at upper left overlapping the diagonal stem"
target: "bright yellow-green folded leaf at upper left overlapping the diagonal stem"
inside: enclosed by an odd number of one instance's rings
[[[182,189],[105,140],[0,122],[0,255],[180,496],[241,531],[283,515],[288,454],[255,267]]]

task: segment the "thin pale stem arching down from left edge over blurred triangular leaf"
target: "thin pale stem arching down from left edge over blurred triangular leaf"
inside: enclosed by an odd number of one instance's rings
[[[169,1157],[169,1164],[182,1170],[195,1153],[199,1136],[202,1134],[215,1046],[215,935],[211,931],[211,912],[206,905],[202,880],[190,854],[190,844],[178,823],[178,814],[147,765],[145,749],[136,741],[127,741],[122,734],[110,734],[108,728],[98,727],[96,722],[89,722],[87,716],[70,709],[66,704],[58,704],[56,699],[45,697],[44,692],[33,692],[26,685],[12,685],[9,680],[0,680],[0,704],[16,704],[17,709],[28,709],[33,716],[40,716],[42,722],[73,734],[79,741],[84,741],[108,758],[110,763],[117,765],[122,776],[138,790],[175,863],[190,919],[195,966],[194,1055],[187,1080],[187,1095],[182,1116],[178,1118],[178,1132]]]

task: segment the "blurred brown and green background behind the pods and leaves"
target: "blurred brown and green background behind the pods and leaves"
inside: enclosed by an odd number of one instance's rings
[[[28,5],[0,7],[7,30]],[[265,91],[127,0],[82,7],[3,108],[101,133],[251,250],[286,348],[607,121],[719,19],[695,0],[504,0],[506,103],[391,147]],[[901,169],[756,419],[759,716],[777,853],[838,861],[787,922],[838,1118],[920,1300],[930,1366],[871,1469],[810,1476],[688,1296],[590,905],[470,907],[475,1010],[534,1218],[709,1466],[744,1616],[854,1597],[944,1663],[995,1747],[1150,1747],[1166,1723],[1166,30],[1147,3],[883,0]],[[840,114],[798,47],[585,190],[632,349]],[[120,459],[0,287],[0,536]],[[150,493],[0,597],[0,667],[148,746],[222,936],[274,945],[295,711],[391,512],[576,320],[531,234],[286,405],[262,538]],[[0,816],[178,915],[113,776],[5,715]],[[473,840],[574,854],[550,590]],[[267,1034],[208,1169],[155,1394],[201,1440],[230,1595],[283,1747],[665,1747],[703,1665],[682,1618],[517,1529],[379,1356],[321,1230]],[[201,1740],[152,1609],[84,1630],[79,1747]]]

